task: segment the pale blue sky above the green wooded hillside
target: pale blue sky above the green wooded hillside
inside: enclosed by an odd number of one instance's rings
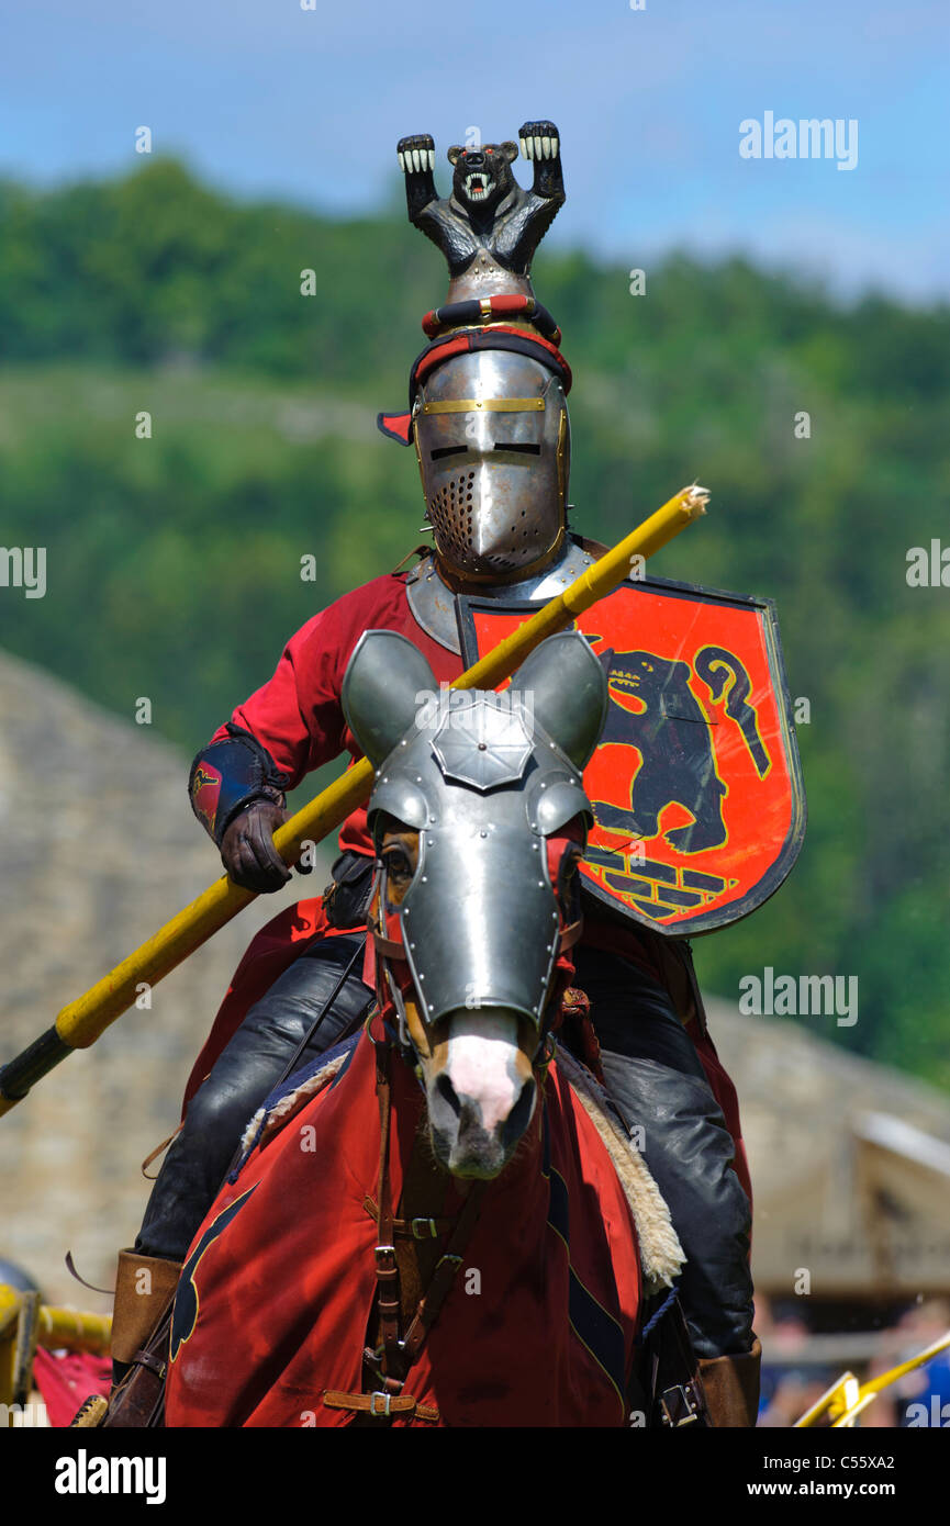
[[[434,134],[446,194],[470,128],[550,118],[551,246],[948,299],[948,76],[945,0],[0,0],[0,174],[127,172],[145,125],[241,198],[359,214],[402,197],[405,133]],[[840,121],[854,168],[742,157],[767,113]]]

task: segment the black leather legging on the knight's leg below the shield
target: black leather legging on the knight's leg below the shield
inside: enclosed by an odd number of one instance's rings
[[[686,1251],[683,1312],[698,1357],[751,1347],[748,1198],[732,1169],[735,1146],[695,1045],[666,990],[612,954],[580,949],[577,984],[591,1000],[608,1090]]]

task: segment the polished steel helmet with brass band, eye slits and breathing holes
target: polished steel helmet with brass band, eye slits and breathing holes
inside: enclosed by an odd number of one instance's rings
[[[554,557],[571,444],[553,371],[507,349],[454,356],[418,385],[412,421],[426,517],[451,572],[502,583]]]

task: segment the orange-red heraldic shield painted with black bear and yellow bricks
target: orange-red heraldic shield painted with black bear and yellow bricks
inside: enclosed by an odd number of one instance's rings
[[[466,662],[536,612],[460,595]],[[747,917],[779,888],[805,835],[773,601],[645,578],[622,583],[576,629],[609,679],[583,775],[596,816],[586,888],[670,937]]]

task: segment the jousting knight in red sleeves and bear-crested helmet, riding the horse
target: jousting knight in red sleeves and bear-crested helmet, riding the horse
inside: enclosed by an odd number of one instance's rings
[[[423,319],[428,343],[411,368],[408,407],[380,414],[379,427],[415,453],[432,546],[411,571],[377,577],[313,615],[273,678],[195,757],[195,816],[228,874],[249,890],[290,879],[273,845],[287,789],[341,754],[360,755],[341,688],[365,630],[402,633],[448,684],[464,667],[460,600],[545,601],[603,549],[570,522],[571,371],[530,282],[538,241],[564,201],[557,128],[525,122],[519,150],[533,163],[530,192],[512,174],[516,145],[502,142],[452,148],[452,194],[440,200],[434,140],[399,143],[409,218],[444,253],[451,284],[446,304]],[[243,996],[235,981],[195,1065],[134,1248],[119,1256],[116,1375],[168,1305],[246,1122],[289,1065],[330,1048],[368,1012],[362,948],[374,847],[365,810],[347,819],[339,847],[307,935],[301,917],[293,938],[276,919],[280,957],[257,961],[257,986]],[[585,1032],[614,1103],[643,1132],[687,1257],[680,1297],[713,1422],[755,1425],[748,1181],[735,1090],[707,1032],[689,945],[611,917],[591,896],[583,916],[576,984],[590,1004]]]

